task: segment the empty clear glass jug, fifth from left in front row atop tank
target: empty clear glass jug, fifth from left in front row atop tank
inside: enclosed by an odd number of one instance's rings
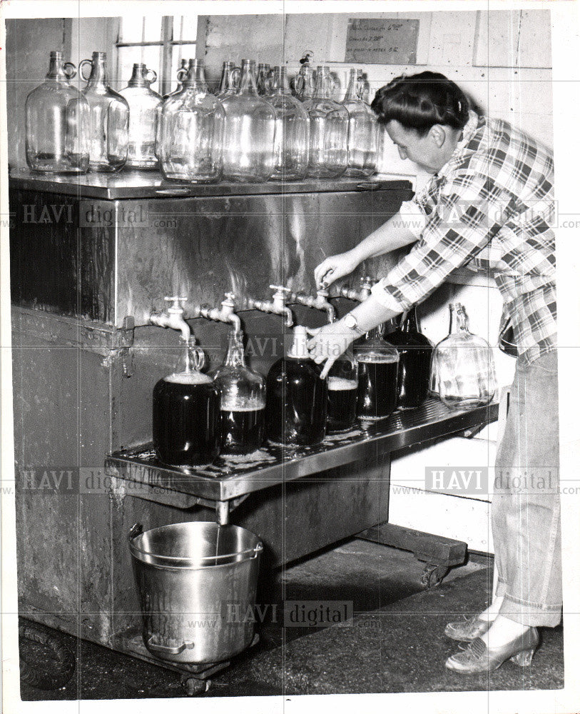
[[[276,114],[258,96],[255,62],[242,60],[238,94],[222,100],[225,110],[223,177],[229,181],[268,181],[274,171]]]

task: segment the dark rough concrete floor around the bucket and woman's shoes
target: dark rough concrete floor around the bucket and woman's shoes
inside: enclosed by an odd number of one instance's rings
[[[531,668],[505,663],[466,677],[443,666],[457,651],[445,623],[482,610],[491,562],[472,556],[442,585],[424,590],[411,553],[350,540],[278,575],[263,602],[278,605],[260,625],[260,642],[215,674],[203,697],[558,689],[564,686],[562,630],[544,629]],[[352,601],[354,617],[325,628],[281,622],[283,600]],[[271,610],[270,610],[271,611]],[[52,692],[21,685],[23,700],[183,697],[180,674],[62,635],[76,653],[71,682]],[[30,656],[30,653],[29,653]],[[43,653],[36,656],[39,666]]]

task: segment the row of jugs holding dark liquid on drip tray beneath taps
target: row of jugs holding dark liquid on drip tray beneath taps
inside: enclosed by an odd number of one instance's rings
[[[427,398],[432,345],[417,329],[414,311],[385,341],[373,331],[332,366],[325,380],[307,352],[306,328],[263,378],[245,365],[241,333],[230,332],[223,364],[208,376],[203,353],[188,346],[185,370],[153,390],[153,444],[173,466],[210,463],[221,454],[255,451],[266,439],[311,446],[327,433],[350,431],[357,418],[384,419]],[[398,348],[395,347],[398,345]]]

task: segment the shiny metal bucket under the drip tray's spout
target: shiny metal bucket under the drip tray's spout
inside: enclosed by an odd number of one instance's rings
[[[260,540],[239,526],[175,523],[129,533],[143,641],[158,658],[222,662],[254,634]]]

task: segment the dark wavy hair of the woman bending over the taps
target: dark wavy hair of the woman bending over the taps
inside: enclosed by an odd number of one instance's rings
[[[419,136],[425,136],[434,124],[463,129],[469,119],[469,99],[439,72],[395,77],[377,91],[370,106],[380,124],[396,120]]]

